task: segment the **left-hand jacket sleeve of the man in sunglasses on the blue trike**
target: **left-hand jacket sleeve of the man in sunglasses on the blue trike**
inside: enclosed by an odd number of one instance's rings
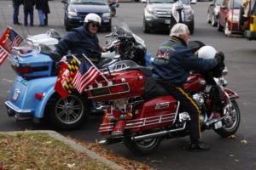
[[[56,45],[56,52],[62,56],[67,54],[70,48],[73,48],[74,44],[79,41],[78,34],[74,31],[67,32],[67,34],[61,38],[60,42]]]

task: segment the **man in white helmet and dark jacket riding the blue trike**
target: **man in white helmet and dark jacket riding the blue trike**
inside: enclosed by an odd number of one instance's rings
[[[71,52],[83,57],[85,54],[92,62],[98,64],[102,56],[102,48],[99,45],[96,32],[101,26],[102,19],[97,14],[87,14],[84,26],[73,29],[61,38],[56,46],[56,52],[61,56]]]

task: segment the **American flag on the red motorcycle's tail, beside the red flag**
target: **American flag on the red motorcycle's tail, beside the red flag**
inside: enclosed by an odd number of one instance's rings
[[[87,59],[83,59],[73,79],[73,87],[77,88],[80,94],[84,92],[91,82],[96,80],[96,77],[100,75],[95,65],[91,65]]]

